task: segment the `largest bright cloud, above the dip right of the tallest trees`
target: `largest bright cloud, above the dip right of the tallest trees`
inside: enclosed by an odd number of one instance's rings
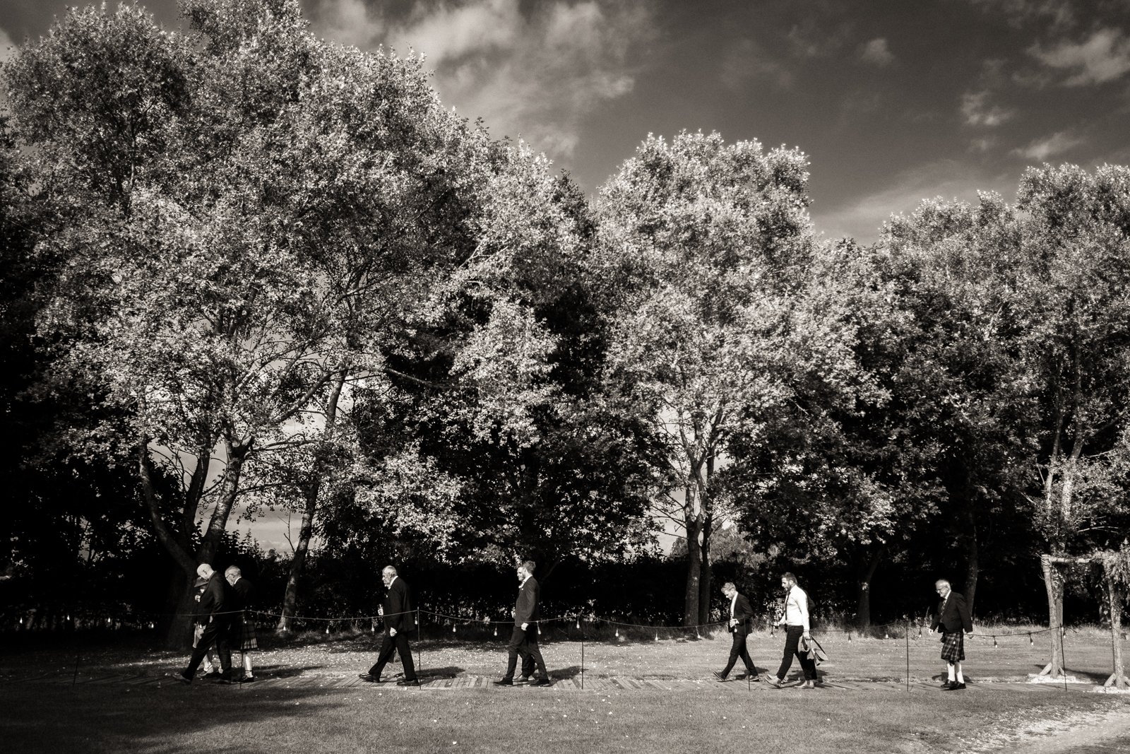
[[[654,36],[647,3],[455,0],[419,2],[400,17],[382,10],[391,5],[323,0],[315,24],[330,36],[367,37],[363,46],[421,53],[446,104],[559,159],[573,155],[593,111],[632,92],[635,50]]]

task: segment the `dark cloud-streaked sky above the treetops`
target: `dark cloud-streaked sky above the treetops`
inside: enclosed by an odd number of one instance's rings
[[[67,5],[0,0],[0,58]],[[1128,0],[302,5],[321,37],[424,54],[443,102],[591,196],[649,133],[718,131],[800,148],[816,231],[870,243],[924,198],[1012,201],[1029,165],[1130,164]]]

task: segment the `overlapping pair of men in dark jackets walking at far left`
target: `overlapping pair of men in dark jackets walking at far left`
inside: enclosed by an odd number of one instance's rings
[[[243,578],[237,565],[229,565],[220,577],[211,565],[202,563],[197,566],[197,577],[192,657],[177,678],[192,683],[200,664],[205,662],[205,678],[221,684],[254,682],[251,651],[259,648],[259,642],[254,623],[245,614],[251,582]],[[242,655],[243,674],[240,677],[232,668],[233,648]],[[219,659],[218,670],[214,652]]]

